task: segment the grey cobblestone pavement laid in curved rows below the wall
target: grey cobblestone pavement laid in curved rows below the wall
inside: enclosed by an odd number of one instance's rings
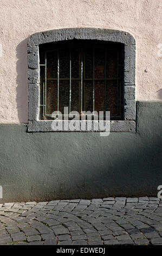
[[[162,245],[158,198],[4,203],[0,221],[0,245]]]

